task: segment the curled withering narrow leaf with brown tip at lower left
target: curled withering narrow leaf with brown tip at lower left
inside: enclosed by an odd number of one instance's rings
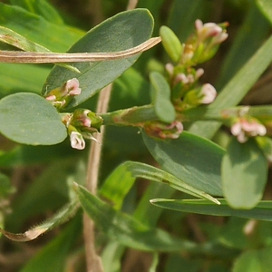
[[[77,209],[78,209],[78,205],[75,202],[73,202],[73,203],[68,204],[66,207],[61,209],[59,212],[57,212],[53,216],[53,218],[44,221],[44,223],[42,223],[34,228],[31,228],[31,229],[25,231],[24,233],[15,234],[15,233],[8,232],[2,228],[0,228],[0,232],[3,233],[6,238],[9,238],[9,239],[14,240],[16,242],[31,241],[34,238],[39,237],[45,231],[47,231],[51,228],[54,228],[55,226],[58,226],[58,225],[62,224],[63,222],[67,221],[68,219],[70,219]]]

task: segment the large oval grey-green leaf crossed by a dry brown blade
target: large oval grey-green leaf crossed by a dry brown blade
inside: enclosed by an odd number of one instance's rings
[[[152,29],[153,19],[147,10],[135,9],[123,12],[92,28],[81,40],[73,44],[68,53],[107,53],[126,50],[147,41],[151,37]],[[68,105],[68,108],[74,107],[112,83],[138,57],[139,54],[114,61],[74,63],[81,74],[64,70],[62,67],[54,67],[44,84],[43,93],[47,91],[48,86],[51,90],[76,77],[80,82],[82,93]]]

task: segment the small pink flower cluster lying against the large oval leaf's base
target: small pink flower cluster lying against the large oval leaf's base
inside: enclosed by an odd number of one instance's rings
[[[81,94],[82,89],[79,87],[79,81],[73,78],[63,84],[62,87],[53,89],[45,95],[45,99],[53,103],[58,109],[65,107],[71,100],[73,96]]]

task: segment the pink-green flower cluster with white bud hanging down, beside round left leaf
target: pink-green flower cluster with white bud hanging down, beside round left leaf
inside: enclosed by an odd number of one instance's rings
[[[99,132],[102,126],[102,117],[85,109],[77,109],[73,113],[63,116],[63,123],[70,135],[71,146],[77,150],[85,148],[86,139],[96,141],[92,133]]]

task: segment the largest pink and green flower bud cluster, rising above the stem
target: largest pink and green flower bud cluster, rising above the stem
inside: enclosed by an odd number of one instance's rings
[[[196,30],[185,44],[179,44],[175,34],[170,29],[167,31],[167,27],[164,26],[161,38],[167,52],[174,52],[173,56],[180,53],[180,57],[175,57],[175,65],[172,63],[165,65],[166,77],[171,88],[171,101],[178,112],[201,104],[209,104],[215,100],[217,92],[211,84],[198,85],[204,70],[195,69],[193,66],[209,60],[217,52],[219,44],[228,38],[227,25],[203,24],[197,20]],[[169,36],[171,36],[170,41],[174,43],[173,46],[167,43]]]

